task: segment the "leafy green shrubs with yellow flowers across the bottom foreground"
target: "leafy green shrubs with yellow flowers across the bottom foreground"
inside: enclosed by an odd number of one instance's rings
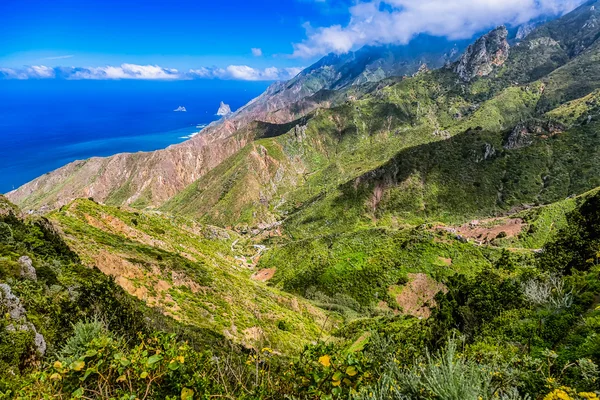
[[[335,340],[283,356],[235,346],[220,354],[206,343],[158,333],[130,337],[119,324],[84,317],[54,342],[49,354],[55,355],[41,368],[31,364],[4,390],[31,399],[595,399],[600,269],[574,263],[561,277],[552,260],[597,251],[598,201],[597,194],[582,200],[535,259],[501,256],[478,272],[441,277],[447,291],[438,293],[428,319],[355,319],[334,332]],[[579,247],[562,239],[569,232],[579,232]],[[58,246],[37,247],[38,254],[68,254]],[[28,310],[27,318],[34,313]]]

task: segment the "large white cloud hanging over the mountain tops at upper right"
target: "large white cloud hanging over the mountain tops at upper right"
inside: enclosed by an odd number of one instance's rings
[[[345,53],[366,44],[406,44],[426,33],[466,39],[501,24],[565,14],[585,0],[368,0],[350,7],[350,22],[314,28],[294,44],[293,57]]]

